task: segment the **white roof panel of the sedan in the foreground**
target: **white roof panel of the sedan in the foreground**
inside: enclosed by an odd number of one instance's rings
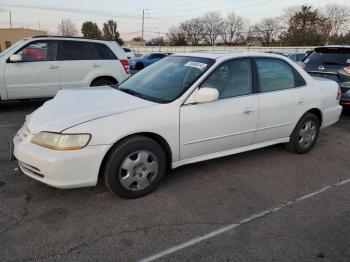
[[[230,52],[230,51],[216,51],[216,52],[189,52],[189,53],[176,53],[173,56],[191,56],[191,57],[202,57],[202,58],[211,58],[211,59],[229,59],[235,57],[274,57],[274,58],[283,58],[283,56],[273,53],[264,53],[264,52]]]

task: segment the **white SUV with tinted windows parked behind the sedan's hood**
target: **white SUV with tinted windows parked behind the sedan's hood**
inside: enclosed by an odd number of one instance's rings
[[[0,54],[0,99],[53,97],[60,89],[114,85],[129,76],[114,41],[32,37]]]

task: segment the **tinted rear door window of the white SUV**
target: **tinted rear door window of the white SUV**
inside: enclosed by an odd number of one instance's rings
[[[99,56],[89,42],[61,41],[60,60],[96,60]]]

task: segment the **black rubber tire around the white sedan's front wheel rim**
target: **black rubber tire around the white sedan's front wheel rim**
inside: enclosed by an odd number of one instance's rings
[[[141,177],[141,173],[138,173],[139,171],[137,171],[140,169],[140,172],[143,172],[143,166],[139,158],[132,160],[135,162],[138,161],[135,165],[139,166],[135,166],[131,172],[124,170],[122,164],[125,161],[130,160],[131,156],[135,154],[137,155],[135,152],[149,152],[149,157],[153,158],[152,161],[156,159],[155,163],[157,164],[157,171],[153,172],[154,174],[147,174],[148,171],[145,171]],[[112,193],[125,198],[137,198],[153,192],[159,186],[166,168],[167,159],[163,148],[151,138],[145,136],[134,136],[115,145],[106,159],[103,176],[107,188]],[[125,179],[123,178],[123,173],[126,173],[125,177],[131,179],[130,181],[135,180],[128,188],[126,188],[121,182]],[[149,176],[151,178],[149,178]],[[140,187],[140,189],[138,189],[139,182],[136,180],[142,179],[149,184],[145,188]]]

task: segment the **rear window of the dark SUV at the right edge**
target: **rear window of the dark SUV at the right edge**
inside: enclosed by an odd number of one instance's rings
[[[304,62],[305,64],[350,65],[350,48],[316,48]]]

